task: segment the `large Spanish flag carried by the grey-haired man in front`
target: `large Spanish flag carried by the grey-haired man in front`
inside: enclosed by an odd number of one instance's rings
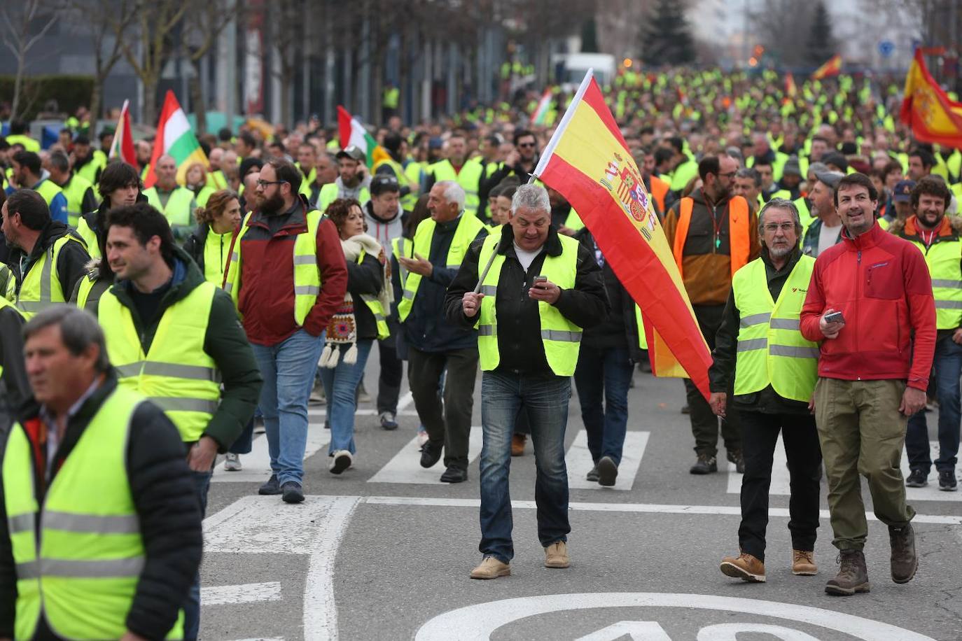
[[[708,346],[642,175],[591,70],[534,174],[577,210],[641,307],[652,372],[690,378],[708,398]]]

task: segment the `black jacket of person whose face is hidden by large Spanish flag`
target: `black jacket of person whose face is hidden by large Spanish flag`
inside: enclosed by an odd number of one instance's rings
[[[577,234],[574,234],[574,237],[597,262],[600,249],[595,245],[595,236],[588,231],[588,228],[579,230]],[[632,362],[641,362],[644,354],[638,344],[638,318],[635,316],[635,299],[631,297],[628,290],[618,280],[611,264],[604,259],[603,255],[600,258],[602,261],[601,278],[604,281],[605,291],[608,293],[611,312],[604,321],[585,330],[581,337],[581,344],[599,350],[627,349],[628,357]]]

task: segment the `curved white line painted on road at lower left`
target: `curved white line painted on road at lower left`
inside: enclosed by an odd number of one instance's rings
[[[357,497],[334,498],[317,525],[304,586],[304,641],[337,641],[334,559],[357,505]]]

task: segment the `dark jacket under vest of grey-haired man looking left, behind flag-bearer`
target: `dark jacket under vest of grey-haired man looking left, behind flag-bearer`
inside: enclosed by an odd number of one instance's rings
[[[404,319],[404,336],[407,344],[421,352],[447,352],[477,346],[477,336],[473,326],[453,325],[444,319],[444,290],[459,273],[456,269],[448,269],[444,259],[447,257],[447,250],[451,247],[451,241],[454,239],[460,220],[456,218],[439,223],[435,228],[431,239],[431,251],[428,256],[423,257],[431,261],[434,271],[430,277],[421,278],[414,305],[408,317]],[[478,231],[474,242],[487,235],[487,230]],[[466,258],[465,261],[467,260]],[[475,261],[477,261],[476,256]]]

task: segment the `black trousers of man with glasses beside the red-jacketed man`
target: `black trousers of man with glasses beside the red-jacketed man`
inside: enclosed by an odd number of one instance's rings
[[[745,476],[742,477],[739,547],[743,552],[765,560],[772,458],[781,431],[791,479],[788,529],[792,532],[792,548],[812,552],[815,550],[815,530],[819,527],[819,481],[822,475],[822,451],[815,417],[757,411],[742,411],[741,417]]]

